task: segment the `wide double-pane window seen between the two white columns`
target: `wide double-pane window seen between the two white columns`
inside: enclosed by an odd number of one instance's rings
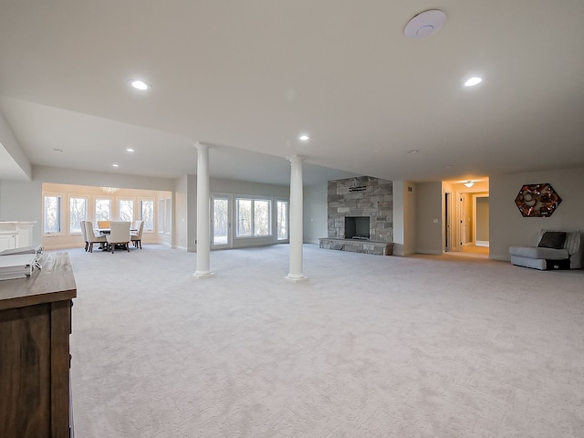
[[[272,235],[271,205],[268,199],[237,198],[237,237]]]

